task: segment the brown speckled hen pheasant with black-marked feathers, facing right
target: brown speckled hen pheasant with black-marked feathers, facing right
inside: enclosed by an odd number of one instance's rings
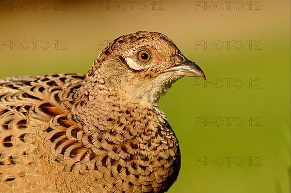
[[[0,79],[0,192],[164,193],[178,140],[157,101],[205,78],[159,32],[113,40],[88,74]]]

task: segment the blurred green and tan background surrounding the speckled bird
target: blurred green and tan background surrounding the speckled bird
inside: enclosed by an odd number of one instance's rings
[[[114,38],[162,32],[208,78],[159,102],[182,154],[169,193],[290,192],[289,0],[25,2],[0,1],[0,77],[86,74]]]

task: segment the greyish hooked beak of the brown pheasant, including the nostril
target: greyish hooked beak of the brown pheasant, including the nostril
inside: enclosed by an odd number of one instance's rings
[[[195,64],[195,62],[186,59],[181,54],[174,55],[172,57],[172,60],[174,61],[176,66],[166,69],[165,71],[163,71],[164,73],[171,72],[173,73],[173,75],[177,76],[201,77],[206,80],[204,72],[197,64]]]

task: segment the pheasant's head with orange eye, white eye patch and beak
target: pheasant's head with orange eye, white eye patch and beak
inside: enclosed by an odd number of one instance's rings
[[[95,60],[84,84],[94,90],[104,83],[132,103],[151,105],[183,76],[206,78],[167,36],[138,31],[113,40]]]

